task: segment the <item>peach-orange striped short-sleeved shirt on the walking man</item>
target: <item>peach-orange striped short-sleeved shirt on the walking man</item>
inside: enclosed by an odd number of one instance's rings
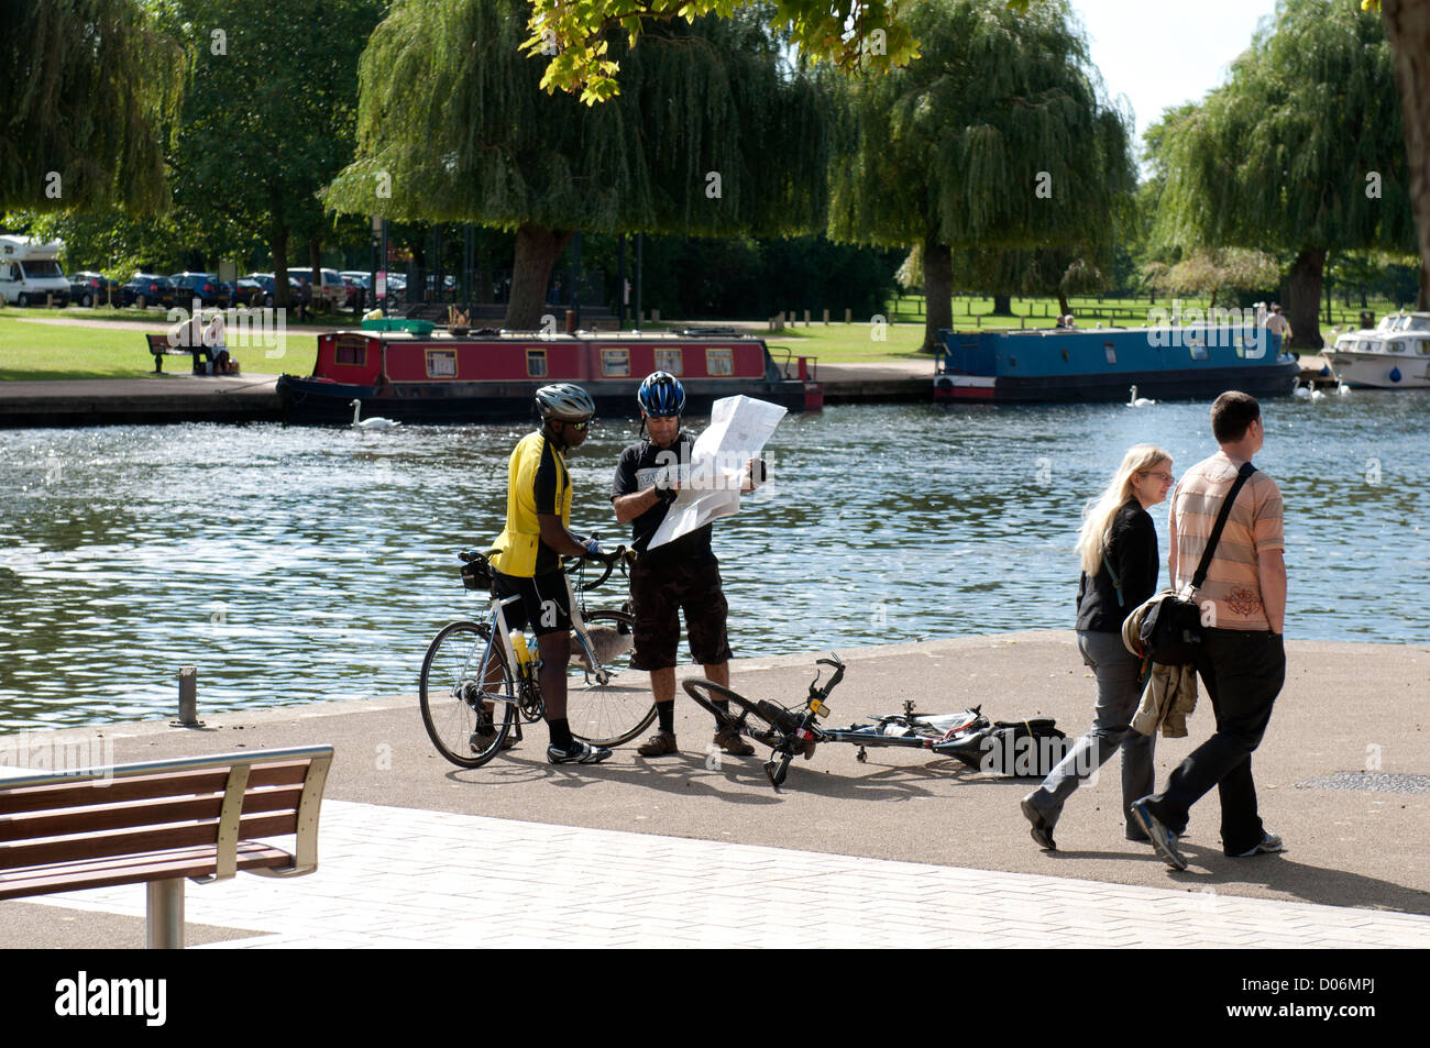
[[[1177,533],[1178,590],[1191,585],[1207,539],[1217,523],[1221,503],[1241,469],[1240,459],[1217,452],[1198,462],[1177,482],[1168,520]],[[1197,593],[1198,603],[1216,602],[1216,621],[1204,622],[1220,629],[1270,629],[1261,606],[1261,580],[1257,576],[1260,550],[1284,549],[1281,489],[1276,480],[1257,470],[1246,482],[1231,506],[1231,516],[1217,542],[1207,569],[1207,580]]]

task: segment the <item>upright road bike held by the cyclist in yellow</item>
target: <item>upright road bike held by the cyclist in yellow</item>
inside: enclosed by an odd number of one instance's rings
[[[458,555],[468,589],[490,589],[492,566],[475,549]],[[629,742],[655,719],[649,676],[631,668],[635,618],[625,609],[588,610],[585,593],[605,582],[631,555],[572,558],[576,586],[566,579],[571,623],[576,638],[566,679],[571,733],[593,746]],[[589,562],[605,563],[585,582]],[[453,622],[442,628],[422,661],[420,706],[438,752],[462,768],[479,768],[522,739],[522,723],[546,713],[536,669],[541,651],[522,631],[506,625],[506,606],[521,596],[492,598],[485,622]]]

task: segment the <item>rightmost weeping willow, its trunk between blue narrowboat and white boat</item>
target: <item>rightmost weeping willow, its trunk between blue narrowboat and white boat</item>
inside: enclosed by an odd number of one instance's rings
[[[1161,136],[1155,234],[1294,256],[1294,343],[1320,349],[1331,250],[1416,244],[1394,60],[1381,20],[1344,0],[1283,0],[1231,79]]]

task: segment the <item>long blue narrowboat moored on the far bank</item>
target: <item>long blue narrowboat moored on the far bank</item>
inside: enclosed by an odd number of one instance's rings
[[[1300,375],[1281,337],[1254,323],[942,330],[940,337],[934,399],[947,402],[1200,400],[1228,389],[1288,396]]]

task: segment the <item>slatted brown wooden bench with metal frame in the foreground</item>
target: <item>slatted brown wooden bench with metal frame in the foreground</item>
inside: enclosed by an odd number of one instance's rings
[[[317,868],[332,746],[0,778],[0,899],[147,885],[150,949],[183,948],[184,878]],[[292,852],[266,838],[293,835]],[[260,841],[259,838],[263,838]]]

